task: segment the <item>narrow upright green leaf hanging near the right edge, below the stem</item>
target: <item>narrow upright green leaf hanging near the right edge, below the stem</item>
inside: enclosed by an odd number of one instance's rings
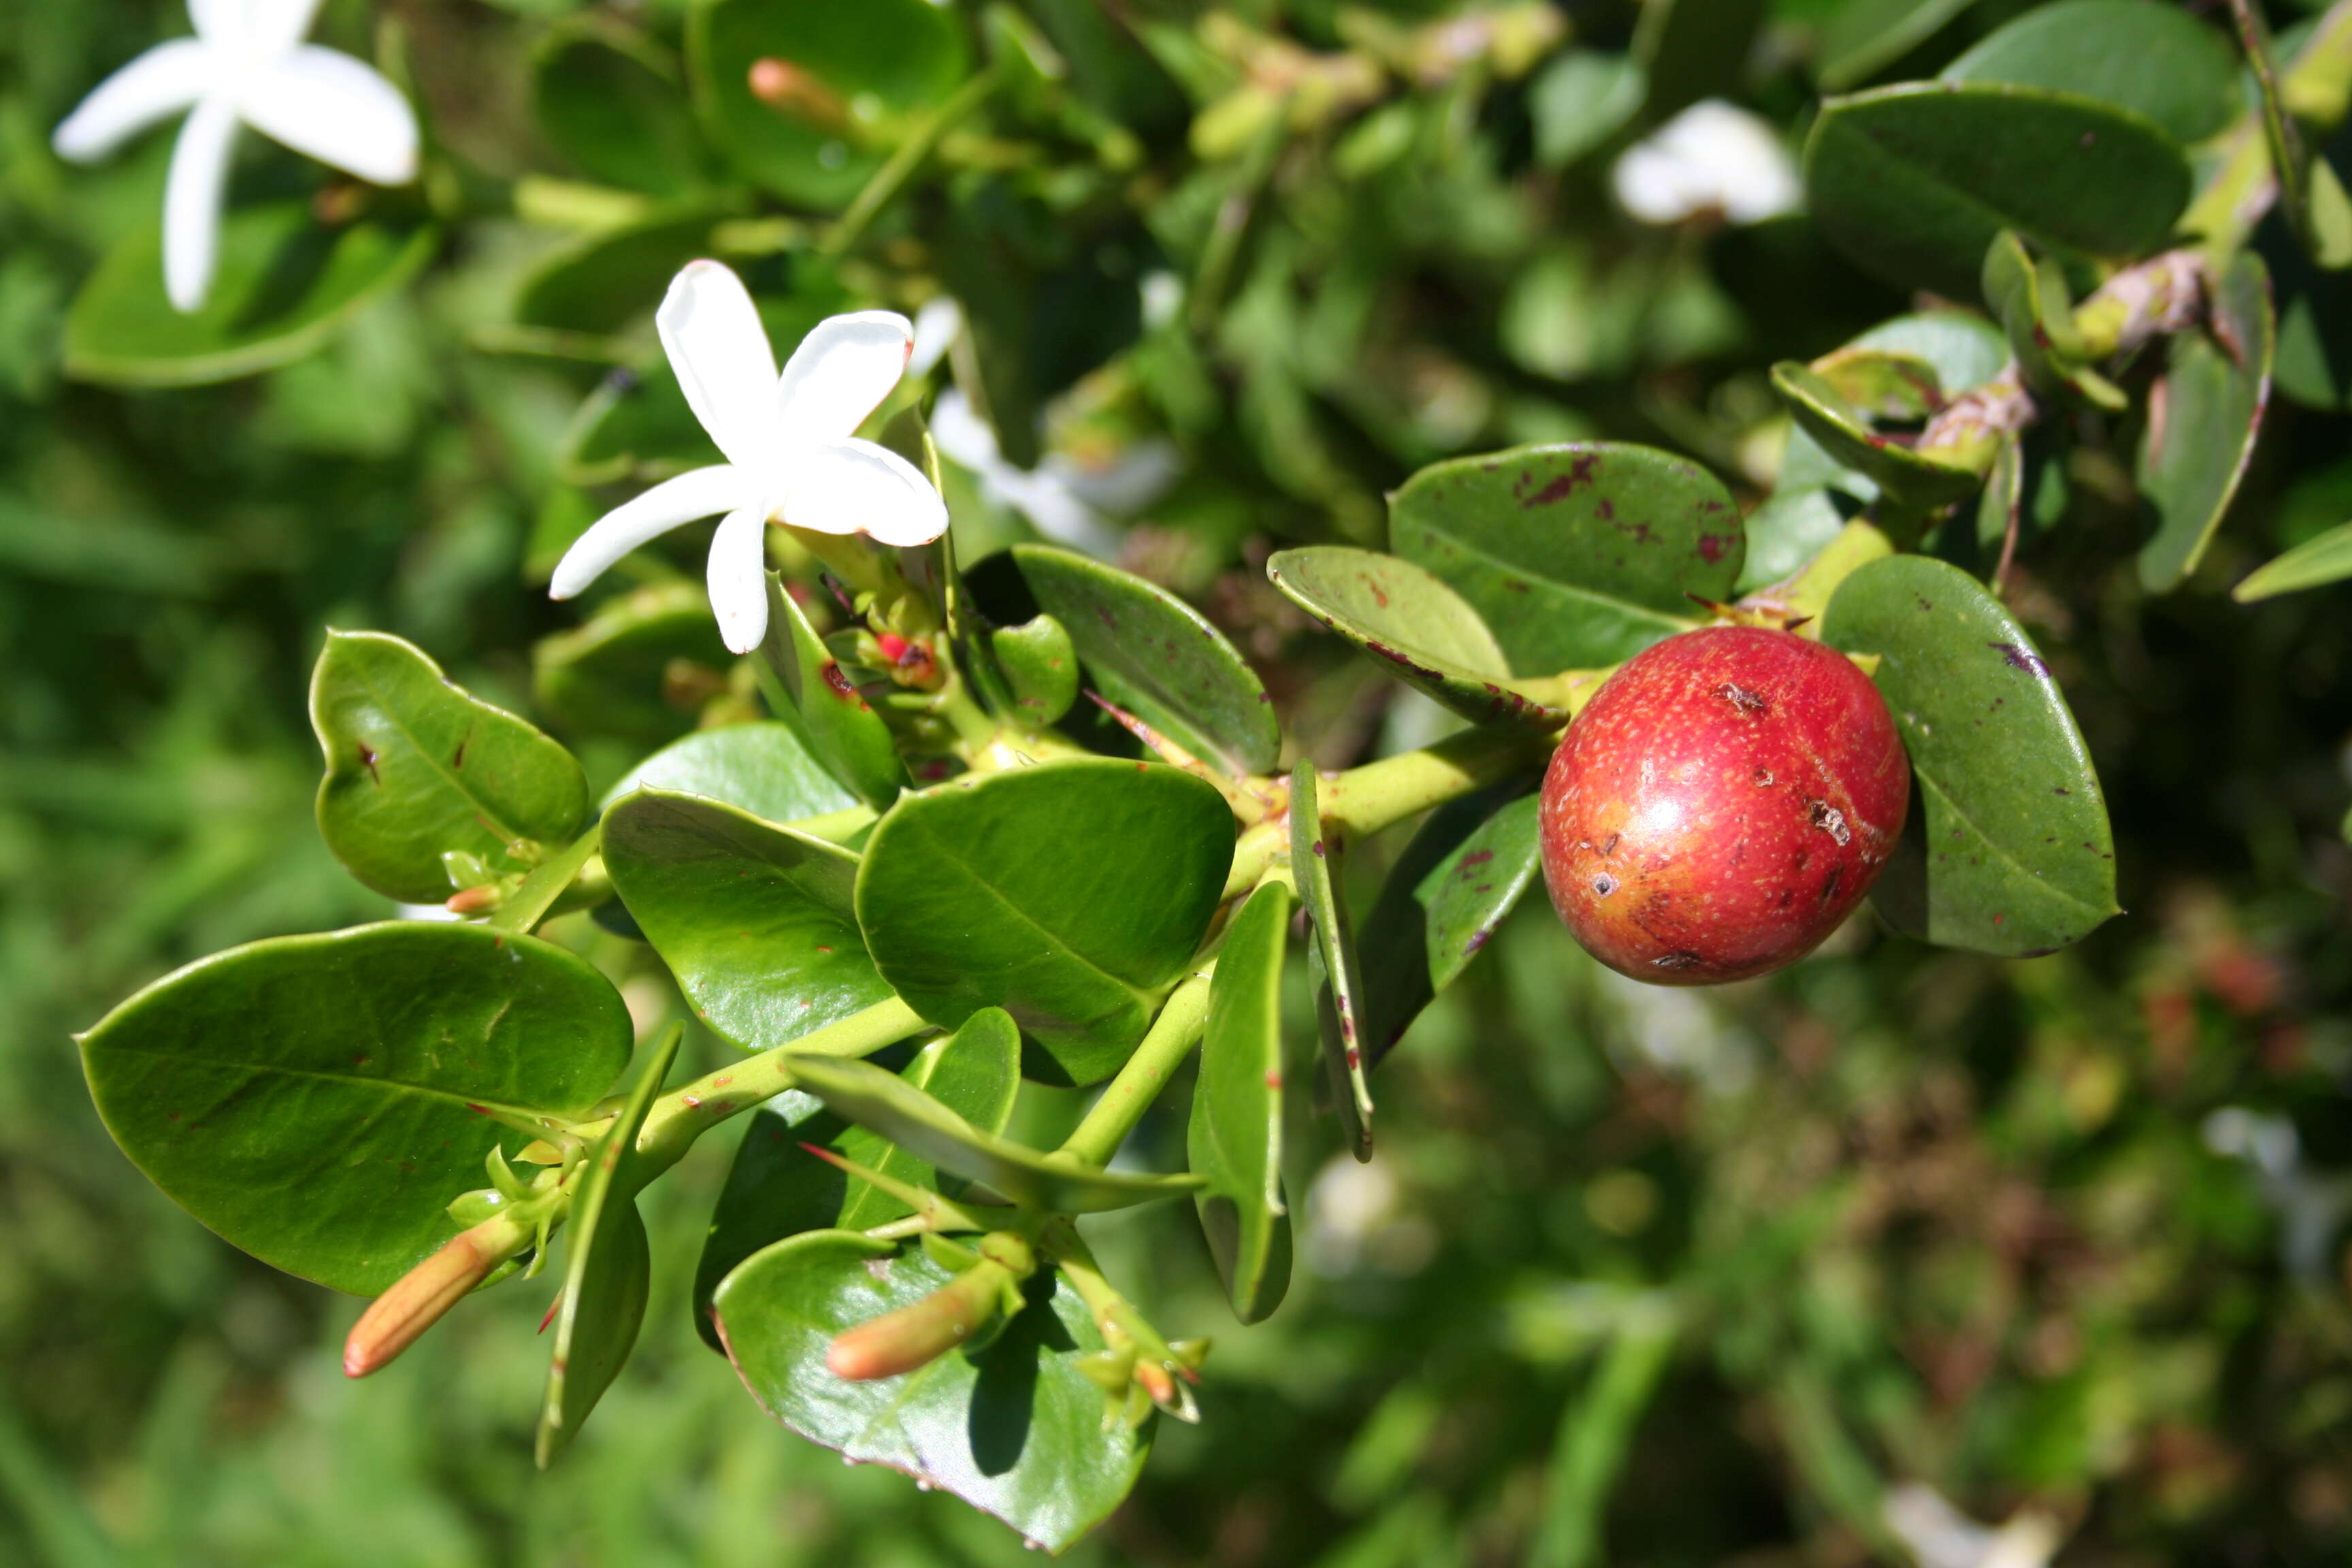
[[[2204,331],[2171,336],[2164,376],[2147,395],[2138,480],[2157,512],[2157,531],[2140,545],[2140,585],[2150,592],[2197,571],[2270,407],[2277,322],[2263,259],[2237,252],[2209,294]]]

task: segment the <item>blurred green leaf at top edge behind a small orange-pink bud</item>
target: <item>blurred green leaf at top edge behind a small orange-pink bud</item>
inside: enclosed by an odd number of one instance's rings
[[[762,103],[753,66],[802,75],[802,106]],[[687,75],[710,143],[795,207],[847,207],[882,167],[908,115],[964,80],[955,16],[927,0],[722,0],[687,12]]]

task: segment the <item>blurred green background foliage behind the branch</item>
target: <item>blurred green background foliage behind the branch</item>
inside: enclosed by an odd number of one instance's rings
[[[517,1354],[546,1286],[348,1385],[358,1302],[122,1161],[73,1030],[228,943],[386,912],[310,825],[322,628],[419,642],[602,780],[727,717],[691,531],[534,675],[579,623],[539,595],[555,552],[694,461],[647,313],[715,249],[786,334],[960,301],[934,383],[962,425],[934,425],[967,559],[1037,527],[1115,555],[1235,632],[1319,762],[1418,743],[1430,712],[1310,637],[1263,555],[1376,541],[1416,465],[1531,440],[1677,447],[1762,498],[1766,367],[1912,301],[1802,214],[1637,223],[1613,158],[1715,94],[1795,143],[1823,85],[1929,75],[2023,9],[332,0],[318,35],[426,108],[433,266],[261,376],[103,390],[66,376],[66,303],[151,221],[169,139],[68,174],[47,132],[183,14],[5,7],[0,1559],[1025,1561],[771,1427],[696,1342],[724,1147],[649,1199],[647,1340],[548,1476]],[[931,129],[901,200],[833,228]],[[254,143],[240,200],[353,200],[313,176]],[[1075,1561],[2343,1561],[2352,618],[2340,588],[2223,590],[2345,517],[2352,428],[2274,409],[2164,599],[2079,435],[2009,599],[2112,792],[2131,914],[2013,964],[1860,919],[1696,994],[1599,971],[1531,900],[1381,1074],[1378,1161],[1303,1194],[1270,1324],[1230,1324],[1181,1206],[1103,1222],[1129,1291],[1218,1349],[1202,1427],[1164,1425]],[[1355,870],[1369,893],[1381,856]],[[677,1006],[576,926],[647,1025]]]

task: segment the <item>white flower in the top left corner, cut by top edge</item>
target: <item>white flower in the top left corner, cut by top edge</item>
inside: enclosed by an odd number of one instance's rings
[[[379,186],[416,179],[409,101],[372,66],[306,45],[315,12],[318,0],[188,0],[195,38],[155,45],[56,127],[56,155],[92,162],[188,110],[162,195],[162,280],[179,310],[212,289],[240,122]]]

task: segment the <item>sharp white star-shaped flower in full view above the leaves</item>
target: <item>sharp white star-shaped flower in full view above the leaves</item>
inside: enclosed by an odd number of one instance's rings
[[[776,374],[767,327],[743,280],[689,261],[654,313],[661,348],[694,418],[727,456],[604,512],[555,564],[548,595],[569,599],[659,534],[724,512],[710,538],[710,609],[720,639],[750,654],[767,635],[767,524],[927,545],[948,505],[915,465],[851,435],[906,374],[915,329],[896,310],[816,324]]]

